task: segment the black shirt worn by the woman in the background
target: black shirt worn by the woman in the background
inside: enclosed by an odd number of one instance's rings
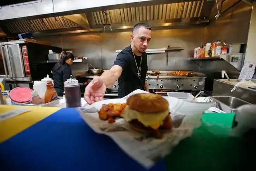
[[[58,94],[63,94],[64,92],[64,82],[70,78],[72,75],[71,68],[69,64],[64,64],[61,67],[57,68],[57,64],[52,69],[53,78],[54,78],[54,88]]]

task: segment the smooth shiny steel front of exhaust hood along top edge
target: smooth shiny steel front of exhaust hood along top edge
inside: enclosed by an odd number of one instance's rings
[[[100,8],[100,10],[109,10],[135,7],[137,5],[144,6],[176,2],[182,2],[182,0],[35,0],[0,7],[0,20],[47,14],[57,14],[62,16],[79,14],[82,13],[81,11],[88,9],[95,10]]]

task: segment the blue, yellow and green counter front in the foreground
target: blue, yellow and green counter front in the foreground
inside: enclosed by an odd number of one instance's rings
[[[0,105],[0,113],[24,106]],[[26,107],[29,112],[0,121],[2,171],[144,171],[108,136],[95,133],[72,108]],[[214,114],[215,121],[216,114]],[[210,131],[211,114],[151,171],[255,169],[251,142]],[[231,128],[234,114],[218,122]],[[229,120],[228,120],[229,118]],[[220,123],[222,124],[222,123]],[[211,128],[210,128],[211,127]],[[227,126],[225,127],[227,128]],[[219,129],[221,131],[221,129]]]

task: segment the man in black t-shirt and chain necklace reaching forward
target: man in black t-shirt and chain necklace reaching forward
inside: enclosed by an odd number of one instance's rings
[[[147,74],[147,54],[145,51],[151,40],[151,27],[138,23],[132,29],[131,45],[116,57],[111,69],[93,80],[85,88],[85,100],[88,104],[103,100],[106,88],[118,79],[118,97],[122,98],[134,90],[149,92],[145,80]]]

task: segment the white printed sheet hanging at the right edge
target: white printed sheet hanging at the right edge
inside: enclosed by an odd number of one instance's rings
[[[239,79],[252,79],[256,64],[253,62],[244,62],[244,66],[239,75]]]

